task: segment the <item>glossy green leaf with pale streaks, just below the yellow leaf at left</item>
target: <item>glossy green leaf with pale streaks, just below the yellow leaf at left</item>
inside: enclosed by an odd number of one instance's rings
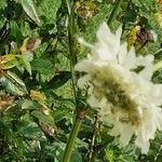
[[[5,90],[11,94],[23,96],[28,93],[25,83],[11,71],[3,73],[3,76],[0,78],[0,82],[2,86],[4,86]]]

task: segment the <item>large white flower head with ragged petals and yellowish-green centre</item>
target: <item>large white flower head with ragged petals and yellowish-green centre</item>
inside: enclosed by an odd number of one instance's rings
[[[112,125],[109,132],[126,146],[135,135],[135,144],[143,153],[149,140],[162,130],[162,85],[153,84],[153,56],[136,56],[134,48],[121,44],[122,29],[112,33],[106,23],[97,31],[97,42],[82,43],[91,49],[91,56],[79,62],[76,70],[85,75],[78,85],[89,87],[89,104],[98,107],[102,121]]]

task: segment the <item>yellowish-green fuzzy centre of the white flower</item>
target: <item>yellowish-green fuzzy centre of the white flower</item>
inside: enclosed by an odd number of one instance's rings
[[[138,105],[133,100],[125,89],[129,89],[121,75],[114,69],[102,68],[92,76],[91,84],[94,86],[93,95],[100,100],[107,99],[112,113],[119,114],[121,122],[131,122],[133,125],[140,123]]]

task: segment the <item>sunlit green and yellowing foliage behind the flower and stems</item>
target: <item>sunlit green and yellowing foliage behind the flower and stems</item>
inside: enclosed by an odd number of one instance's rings
[[[96,29],[108,21],[116,0],[77,0],[77,37],[95,41]],[[162,1],[123,0],[112,24],[122,25],[122,40],[137,54],[162,59]],[[158,35],[154,42],[151,30]],[[78,58],[87,50],[78,45]],[[152,81],[162,83],[162,69]],[[83,98],[83,102],[85,99]],[[0,161],[60,162],[75,117],[65,0],[0,1]],[[161,162],[162,133],[147,156],[118,138],[89,109],[71,162]]]

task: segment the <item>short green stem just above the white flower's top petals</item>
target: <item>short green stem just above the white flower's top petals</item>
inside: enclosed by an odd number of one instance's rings
[[[121,2],[122,2],[122,0],[116,0],[116,4],[114,4],[114,6],[111,11],[111,14],[109,16],[109,19],[108,19],[108,25],[109,26],[111,26],[112,21],[114,19],[116,15],[117,15],[117,12],[120,9]]]

